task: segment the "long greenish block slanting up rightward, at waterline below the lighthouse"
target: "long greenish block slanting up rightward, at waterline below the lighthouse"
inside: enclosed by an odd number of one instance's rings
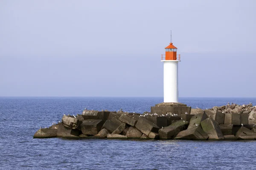
[[[160,139],[173,139],[180,131],[186,130],[188,126],[189,122],[183,122],[183,120],[174,122],[172,125],[159,129],[159,137]]]

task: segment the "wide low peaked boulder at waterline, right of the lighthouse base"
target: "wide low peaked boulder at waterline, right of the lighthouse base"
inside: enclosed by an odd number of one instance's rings
[[[208,136],[201,128],[201,126],[190,127],[177,134],[175,139],[185,140],[207,140]]]

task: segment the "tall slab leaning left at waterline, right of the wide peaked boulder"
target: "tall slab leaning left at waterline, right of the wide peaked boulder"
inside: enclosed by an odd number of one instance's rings
[[[208,140],[223,140],[224,136],[218,125],[218,122],[213,120],[211,117],[204,119],[201,122],[201,127],[204,132],[209,136]]]

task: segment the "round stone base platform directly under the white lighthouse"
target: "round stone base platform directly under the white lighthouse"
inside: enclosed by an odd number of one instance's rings
[[[163,102],[156,104],[155,106],[151,106],[151,114],[157,113],[158,115],[166,115],[167,113],[172,113],[180,116],[184,113],[190,114],[190,111],[191,107],[179,102]]]

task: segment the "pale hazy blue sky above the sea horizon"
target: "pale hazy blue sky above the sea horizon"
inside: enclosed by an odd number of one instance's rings
[[[1,0],[0,96],[256,97],[255,0]]]

